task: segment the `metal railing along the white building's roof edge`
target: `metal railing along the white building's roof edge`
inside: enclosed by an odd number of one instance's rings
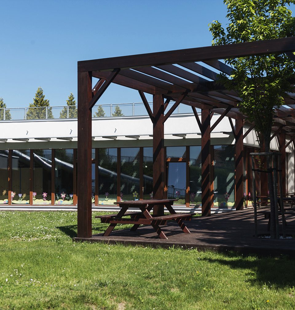
[[[174,102],[170,102],[170,106]],[[149,102],[152,109],[152,102]],[[77,118],[78,106],[33,107],[33,108],[0,108],[0,121],[42,120]],[[92,108],[93,118],[146,116],[147,111],[142,102],[120,104],[97,104]],[[173,114],[192,113],[190,106],[179,104]]]

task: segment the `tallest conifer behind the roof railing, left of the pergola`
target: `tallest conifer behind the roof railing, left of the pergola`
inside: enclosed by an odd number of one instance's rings
[[[29,104],[27,110],[27,119],[44,119],[46,118],[46,108],[49,107],[49,100],[45,99],[43,89],[38,87],[33,103]],[[47,108],[47,118],[53,118],[52,108]]]

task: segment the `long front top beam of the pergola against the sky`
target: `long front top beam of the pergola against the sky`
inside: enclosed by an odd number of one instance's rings
[[[175,51],[111,57],[78,62],[78,72],[128,69],[218,59],[281,53],[295,50],[295,38],[281,38],[227,45],[197,47]],[[213,66],[213,65],[211,65]]]

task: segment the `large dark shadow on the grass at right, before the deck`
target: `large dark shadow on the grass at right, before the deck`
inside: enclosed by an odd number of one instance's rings
[[[229,266],[232,269],[248,269],[246,282],[252,285],[266,285],[274,288],[295,286],[295,259],[288,256],[271,257],[239,257],[229,253],[228,259],[204,259],[210,263]]]

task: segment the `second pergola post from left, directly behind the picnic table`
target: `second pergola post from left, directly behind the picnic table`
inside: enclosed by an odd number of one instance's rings
[[[153,96],[153,194],[156,199],[164,199],[165,149],[164,149],[164,100],[162,95]],[[164,215],[163,206],[154,206],[153,215]]]

